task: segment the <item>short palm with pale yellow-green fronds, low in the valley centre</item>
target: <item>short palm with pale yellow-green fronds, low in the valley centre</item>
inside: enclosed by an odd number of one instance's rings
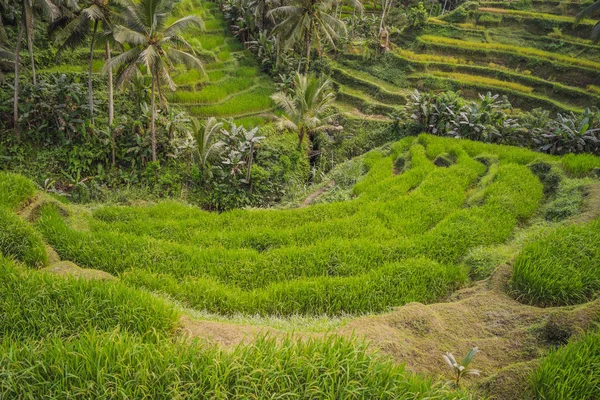
[[[302,146],[305,136],[312,139],[316,132],[334,128],[323,118],[325,111],[335,100],[329,80],[296,73],[290,95],[279,92],[271,98],[284,112],[278,118],[280,128],[287,128],[298,134],[298,147]]]

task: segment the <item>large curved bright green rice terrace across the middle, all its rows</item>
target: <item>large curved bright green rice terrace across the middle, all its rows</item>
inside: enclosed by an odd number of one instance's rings
[[[504,243],[543,196],[521,165],[535,153],[498,151],[498,167],[486,171],[469,143],[421,136],[373,151],[346,202],[218,215],[172,202],[103,207],[89,232],[46,207],[38,227],[65,259],[214,313],[343,315],[431,303],[465,281],[460,260],[470,249]],[[495,149],[503,148],[479,153]],[[435,167],[440,153],[456,163]],[[465,207],[474,186],[479,200]]]

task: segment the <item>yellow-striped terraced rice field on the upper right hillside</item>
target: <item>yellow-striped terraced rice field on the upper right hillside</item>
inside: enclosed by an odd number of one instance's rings
[[[461,90],[466,97],[492,91],[519,108],[581,112],[600,105],[600,46],[589,35],[595,21],[574,24],[581,4],[484,2],[466,16],[430,18],[418,34],[393,34],[386,65],[363,60],[360,46],[338,57],[334,80],[342,108],[387,115],[401,99],[382,95]],[[359,70],[362,74],[357,73]],[[391,87],[390,87],[391,86]]]

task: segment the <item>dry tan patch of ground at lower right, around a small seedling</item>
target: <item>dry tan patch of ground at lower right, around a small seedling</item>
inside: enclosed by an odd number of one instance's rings
[[[509,276],[510,266],[501,266],[492,278],[456,292],[446,303],[407,304],[354,320],[339,333],[365,337],[409,370],[448,379],[451,371],[441,355],[449,351],[462,358],[477,346],[472,366],[482,377],[471,381],[490,395],[502,393],[499,399],[522,398],[528,386],[524,371],[550,347],[598,321],[600,299],[577,307],[527,306],[505,292]]]

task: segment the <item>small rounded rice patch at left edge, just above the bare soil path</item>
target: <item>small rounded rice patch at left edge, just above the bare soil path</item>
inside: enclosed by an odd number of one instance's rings
[[[48,264],[40,234],[4,207],[0,207],[0,255],[19,260],[31,268]]]

